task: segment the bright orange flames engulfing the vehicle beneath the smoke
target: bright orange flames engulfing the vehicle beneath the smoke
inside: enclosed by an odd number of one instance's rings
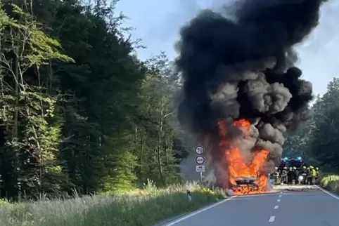
[[[224,149],[226,154],[228,180],[231,189],[235,194],[255,194],[267,192],[267,175],[261,173],[261,168],[264,166],[269,151],[267,149],[258,149],[252,156],[250,163],[246,163],[241,155],[238,147],[234,147],[234,140],[226,138],[227,131],[223,121],[219,121],[219,133],[221,136],[220,147]],[[234,126],[241,128],[245,136],[250,133],[250,121],[239,119],[234,121]],[[237,182],[237,178],[254,180],[252,185],[241,184]],[[245,181],[242,180],[242,181]]]

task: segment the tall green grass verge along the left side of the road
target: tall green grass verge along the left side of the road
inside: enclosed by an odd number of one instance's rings
[[[173,185],[158,190],[146,187],[124,194],[101,194],[68,200],[36,201],[10,204],[0,201],[0,225],[154,225],[180,213],[194,211],[224,199],[221,191],[211,191],[191,184],[192,201],[186,189]]]

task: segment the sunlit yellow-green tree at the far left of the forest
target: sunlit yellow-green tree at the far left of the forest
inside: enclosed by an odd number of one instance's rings
[[[56,159],[60,126],[56,98],[41,83],[41,67],[49,60],[72,61],[60,53],[60,44],[44,34],[32,15],[7,4],[11,17],[1,11],[2,120],[7,142],[1,168],[5,190],[36,189],[35,194],[59,190],[64,175]],[[11,166],[8,166],[8,159]],[[1,164],[2,165],[2,164]],[[13,173],[8,172],[11,169]],[[29,195],[33,193],[28,192]]]

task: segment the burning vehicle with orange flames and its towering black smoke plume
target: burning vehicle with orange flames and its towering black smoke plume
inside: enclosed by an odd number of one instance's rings
[[[207,178],[215,185],[269,192],[283,134],[310,118],[312,84],[295,67],[294,46],[318,25],[323,2],[243,0],[201,11],[181,28],[178,119],[211,144]]]

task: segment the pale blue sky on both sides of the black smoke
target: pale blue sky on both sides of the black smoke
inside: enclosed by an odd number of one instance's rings
[[[228,3],[230,3],[229,0]],[[139,49],[142,60],[165,51],[172,60],[177,56],[174,44],[179,29],[204,8],[220,8],[226,0],[120,0],[117,11],[129,19],[124,25],[133,27],[132,38],[141,39],[146,49]],[[321,8],[319,26],[297,48],[298,67],[303,79],[311,81],[314,94],[323,95],[333,77],[339,76],[339,1]]]

